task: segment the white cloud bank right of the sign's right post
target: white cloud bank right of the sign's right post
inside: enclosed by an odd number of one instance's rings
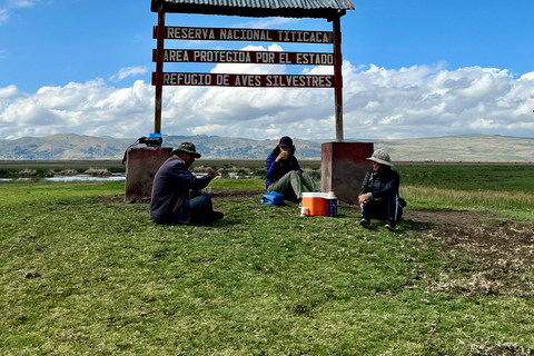
[[[345,137],[407,138],[457,134],[534,137],[534,82],[506,70],[442,66],[344,69]],[[530,110],[528,110],[530,109]]]

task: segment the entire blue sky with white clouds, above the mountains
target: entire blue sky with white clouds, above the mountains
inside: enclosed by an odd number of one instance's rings
[[[353,0],[342,18],[345,139],[534,138],[533,0]],[[154,132],[150,1],[0,0],[0,139]],[[324,19],[169,13],[167,26],[332,31]],[[165,48],[332,52],[332,44],[166,40]],[[327,66],[165,63],[327,73]],[[336,139],[333,89],[164,87],[161,134]]]

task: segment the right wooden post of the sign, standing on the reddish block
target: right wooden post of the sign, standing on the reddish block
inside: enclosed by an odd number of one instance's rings
[[[333,19],[334,31],[334,101],[335,101],[335,117],[336,117],[336,141],[343,142],[343,77],[342,77],[342,26],[340,17],[344,13]]]

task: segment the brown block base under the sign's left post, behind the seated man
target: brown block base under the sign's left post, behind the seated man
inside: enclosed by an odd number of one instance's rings
[[[149,199],[159,167],[170,157],[171,147],[132,147],[126,151],[126,202]]]

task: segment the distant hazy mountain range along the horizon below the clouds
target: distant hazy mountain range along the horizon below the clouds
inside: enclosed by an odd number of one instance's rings
[[[121,159],[135,138],[91,137],[60,134],[0,140],[0,159]],[[278,140],[253,140],[219,136],[165,136],[165,147],[194,142],[204,158],[264,159]],[[299,159],[320,158],[326,140],[295,139]],[[345,140],[369,142],[369,140]],[[534,161],[534,139],[490,135],[459,135],[435,138],[375,140],[395,161]],[[144,147],[145,145],[139,145]]]

